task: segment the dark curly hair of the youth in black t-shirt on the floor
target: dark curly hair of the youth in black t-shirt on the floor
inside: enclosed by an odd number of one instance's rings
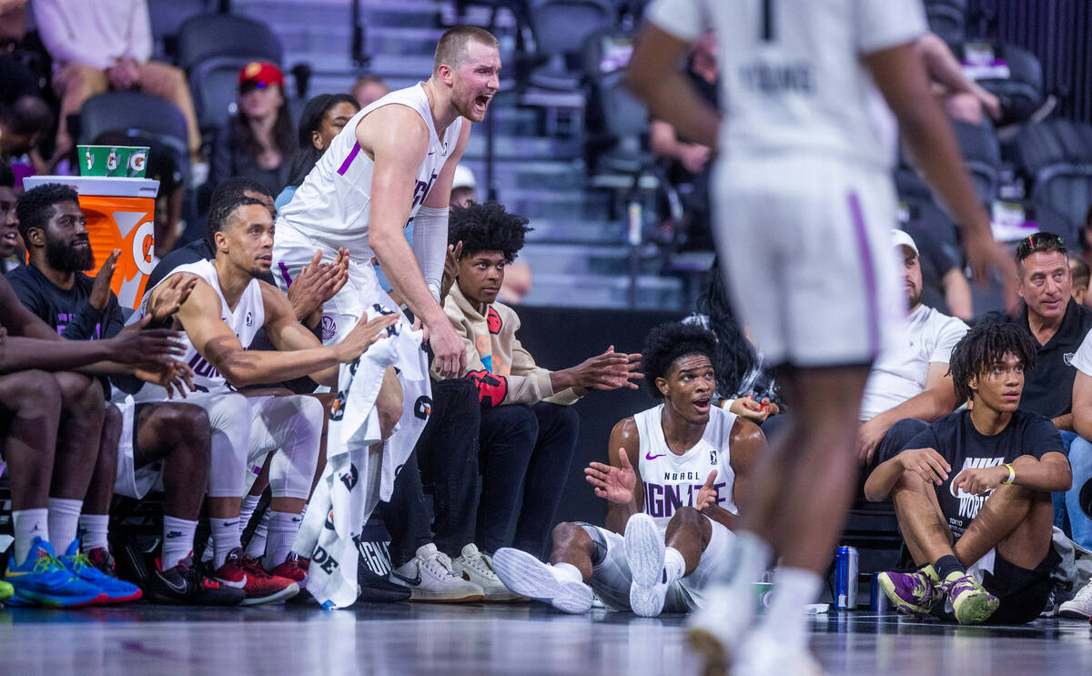
[[[1035,368],[1038,355],[1031,334],[1016,323],[981,323],[966,332],[952,349],[948,375],[960,402],[971,399],[971,379],[982,376],[1011,353],[1024,370]]]

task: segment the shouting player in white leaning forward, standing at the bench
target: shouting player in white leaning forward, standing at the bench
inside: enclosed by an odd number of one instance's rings
[[[499,73],[497,38],[475,26],[448,29],[437,44],[431,78],[357,112],[281,211],[274,260],[283,288],[316,248],[325,260],[339,247],[351,251],[349,282],[323,309],[327,344],[341,342],[366,308],[396,307],[376,280],[375,257],[424,325],[440,376],[455,377],[465,366],[462,341],[439,304],[448,203],[470,122],[485,119]],[[403,236],[411,218],[412,249]],[[401,399],[388,368],[380,402],[392,392]]]

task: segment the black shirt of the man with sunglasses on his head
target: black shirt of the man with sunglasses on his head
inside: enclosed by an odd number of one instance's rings
[[[989,312],[983,321],[1019,323],[1034,337],[1028,323],[1028,307],[1020,317],[1009,317],[1005,312]],[[1072,366],[1073,355],[1092,329],[1092,310],[1069,300],[1061,325],[1046,345],[1038,346],[1038,363],[1024,372],[1024,390],[1020,398],[1020,411],[1038,413],[1055,418],[1072,411],[1073,380],[1077,369]],[[1037,343],[1036,343],[1037,344]]]

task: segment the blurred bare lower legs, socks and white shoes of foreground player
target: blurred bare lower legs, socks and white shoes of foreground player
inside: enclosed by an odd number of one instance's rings
[[[780,556],[770,608],[753,627],[751,654],[775,635],[770,657],[806,654],[804,606],[818,596],[856,485],[853,454],[857,407],[868,366],[787,371],[782,382],[794,419],[759,458],[748,509],[732,548],[723,584],[710,590],[691,619],[690,641],[707,660],[707,674],[724,674],[732,653],[751,628],[751,585]],[[817,506],[822,509],[817,509]],[[761,534],[761,535],[760,535]]]

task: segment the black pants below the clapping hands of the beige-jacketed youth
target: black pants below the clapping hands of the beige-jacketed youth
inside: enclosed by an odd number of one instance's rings
[[[579,431],[571,406],[538,402],[482,410],[476,531],[482,550],[512,546],[545,556]]]

